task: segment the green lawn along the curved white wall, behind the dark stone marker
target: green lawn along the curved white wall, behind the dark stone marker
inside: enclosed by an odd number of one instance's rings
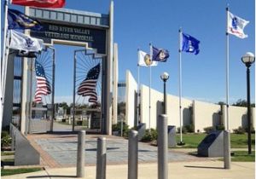
[[[183,134],[183,142],[185,142],[183,148],[196,148],[199,143],[207,136],[205,133],[191,133],[191,134]],[[176,135],[176,141],[180,141],[180,135]],[[231,148],[247,148],[247,134],[238,135],[231,134],[230,135]],[[255,134],[252,134],[252,148],[254,148],[255,144]]]

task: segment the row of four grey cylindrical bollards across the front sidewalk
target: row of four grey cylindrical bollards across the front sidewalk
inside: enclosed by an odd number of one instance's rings
[[[168,178],[168,141],[167,116],[160,115],[158,120],[158,178]],[[77,177],[84,177],[85,131],[79,131],[78,136]],[[96,179],[106,179],[107,144],[105,137],[97,139]],[[128,179],[137,179],[138,164],[138,134],[131,130],[128,141]]]

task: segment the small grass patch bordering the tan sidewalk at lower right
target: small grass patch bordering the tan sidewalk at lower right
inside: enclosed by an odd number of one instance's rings
[[[254,162],[255,161],[255,151],[252,154],[248,154],[248,151],[235,151],[234,156],[231,156],[232,162]],[[219,159],[223,161],[223,159]]]

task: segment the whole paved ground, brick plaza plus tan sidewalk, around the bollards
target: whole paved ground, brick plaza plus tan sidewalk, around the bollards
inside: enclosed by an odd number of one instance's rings
[[[96,178],[96,139],[98,136],[86,135],[85,177]],[[107,178],[127,178],[128,141],[122,137],[107,138]],[[77,135],[44,134],[28,136],[32,145],[41,155],[44,170],[2,178],[76,178]],[[139,142],[138,178],[157,178],[157,147]],[[224,169],[224,162],[217,159],[198,158],[188,151],[196,149],[169,149],[168,178],[174,179],[253,179],[254,162],[232,162],[231,169]]]

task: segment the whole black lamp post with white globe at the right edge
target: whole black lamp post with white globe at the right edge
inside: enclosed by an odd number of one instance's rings
[[[251,138],[251,95],[250,95],[250,66],[255,61],[255,56],[251,52],[247,52],[241,57],[241,61],[247,66],[247,125],[248,125],[248,154],[252,153]]]

